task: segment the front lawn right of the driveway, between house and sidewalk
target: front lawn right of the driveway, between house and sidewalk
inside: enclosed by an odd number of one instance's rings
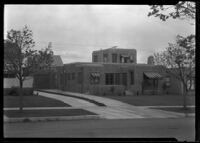
[[[180,95],[140,95],[140,96],[105,96],[135,106],[181,106]],[[195,96],[187,96],[187,105],[195,105]]]

